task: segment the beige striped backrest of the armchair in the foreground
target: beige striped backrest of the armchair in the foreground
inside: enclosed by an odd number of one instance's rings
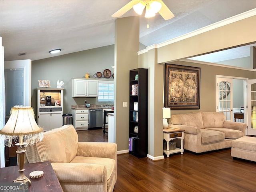
[[[61,139],[60,139],[61,138]],[[44,132],[44,138],[32,146],[27,146],[26,157],[29,163],[50,161],[69,163],[78,148],[78,135],[72,125]]]

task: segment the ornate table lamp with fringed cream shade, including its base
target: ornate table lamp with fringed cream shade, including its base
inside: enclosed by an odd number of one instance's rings
[[[31,184],[30,179],[24,175],[25,147],[41,141],[44,137],[43,129],[36,124],[33,108],[30,106],[14,106],[10,112],[8,122],[0,130],[0,134],[1,139],[5,141],[5,146],[11,147],[12,140],[14,140],[18,148],[16,154],[19,165],[19,176],[13,182],[28,182],[28,184]],[[28,143],[24,142],[27,139],[30,139],[30,141]]]

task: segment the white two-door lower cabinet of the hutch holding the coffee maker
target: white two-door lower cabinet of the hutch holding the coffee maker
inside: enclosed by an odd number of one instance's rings
[[[62,112],[39,113],[38,125],[48,131],[62,126]]]

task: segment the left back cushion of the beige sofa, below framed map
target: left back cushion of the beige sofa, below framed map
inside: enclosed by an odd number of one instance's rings
[[[204,128],[201,112],[171,115],[171,122],[174,125],[188,125]]]

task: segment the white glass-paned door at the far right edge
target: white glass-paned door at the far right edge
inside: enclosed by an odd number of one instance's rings
[[[247,108],[247,126],[248,135],[256,135],[256,79],[248,80],[248,108]]]

